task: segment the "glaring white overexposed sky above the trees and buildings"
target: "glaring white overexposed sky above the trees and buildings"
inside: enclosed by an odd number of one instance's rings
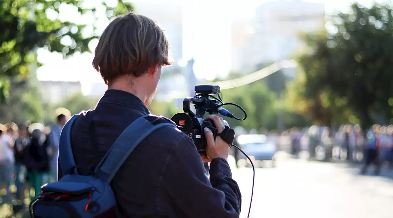
[[[104,0],[108,5],[116,5],[116,0]],[[162,0],[132,0],[137,10],[138,3],[143,2],[161,2]],[[349,8],[353,2],[351,0],[304,0],[305,2],[325,3],[327,14],[334,11],[344,11]],[[186,10],[190,10],[190,0],[167,0],[168,5],[171,2],[175,4],[187,4]],[[267,2],[267,0],[196,0],[195,1],[195,20],[192,23],[191,15],[184,18],[189,22],[187,27],[187,37],[184,38],[183,56],[189,59],[191,53],[195,57],[195,74],[198,79],[214,79],[216,76],[225,76],[230,70],[231,50],[230,45],[230,24],[231,20],[250,19],[255,15],[255,7]],[[361,4],[367,5],[372,2],[369,0],[359,0]],[[86,5],[99,5],[99,0],[85,0]],[[170,7],[170,6],[168,6]],[[95,24],[97,33],[102,33],[109,20],[104,16],[105,8],[99,7],[98,11],[102,13],[99,20],[94,20],[92,15],[80,17],[75,8],[61,7],[61,13],[58,18],[62,21],[69,20],[80,24]],[[138,11],[137,11],[138,12]],[[190,11],[188,11],[188,14]],[[47,12],[48,17],[56,18],[57,15],[51,11]],[[206,16],[208,15],[208,16]],[[213,17],[213,18],[212,18]],[[159,20],[157,20],[159,22]],[[192,38],[190,31],[194,29],[195,35]],[[209,34],[206,34],[209,33]],[[91,31],[86,31],[86,35]],[[194,43],[192,43],[192,40]],[[62,43],[69,44],[70,40],[65,38]],[[91,51],[94,51],[97,40],[89,44]],[[193,45],[193,46],[192,46]],[[38,61],[44,65],[37,70],[37,77],[42,81],[80,81],[82,91],[90,92],[92,82],[102,82],[99,73],[92,68],[92,53],[75,54],[66,60],[58,53],[50,53],[44,49],[38,50]],[[175,64],[181,60],[175,60]]]

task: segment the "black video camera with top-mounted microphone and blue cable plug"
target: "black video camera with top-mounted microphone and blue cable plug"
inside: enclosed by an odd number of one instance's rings
[[[213,121],[203,119],[206,112],[208,114],[221,114],[226,117],[234,118],[237,120],[245,120],[247,118],[246,111],[234,103],[223,103],[222,95],[220,96],[220,86],[215,85],[196,85],[194,97],[187,97],[183,100],[184,113],[177,113],[171,118],[179,127],[182,132],[188,135],[193,141],[200,154],[206,153],[206,138],[204,135],[204,128],[207,127],[213,132],[214,139],[220,137],[229,145],[233,143],[235,132],[227,125],[225,130],[221,133],[217,132]],[[245,117],[239,119],[231,114],[228,110],[222,108],[224,105],[234,105],[239,107]],[[225,123],[227,123],[225,121]]]

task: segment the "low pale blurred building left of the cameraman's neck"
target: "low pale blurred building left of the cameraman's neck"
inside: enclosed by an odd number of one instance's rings
[[[81,82],[40,81],[42,99],[58,104],[74,93],[82,92]]]

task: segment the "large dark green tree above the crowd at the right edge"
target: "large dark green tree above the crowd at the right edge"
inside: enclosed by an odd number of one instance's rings
[[[339,115],[368,127],[393,117],[393,9],[351,9],[334,16],[328,31],[305,37],[310,52],[298,58],[298,88],[315,119],[331,124]]]

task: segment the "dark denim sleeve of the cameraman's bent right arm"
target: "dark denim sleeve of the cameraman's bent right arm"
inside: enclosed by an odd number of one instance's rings
[[[241,193],[225,159],[211,161],[209,181],[194,143],[184,136],[167,160],[161,185],[183,217],[239,217]]]

